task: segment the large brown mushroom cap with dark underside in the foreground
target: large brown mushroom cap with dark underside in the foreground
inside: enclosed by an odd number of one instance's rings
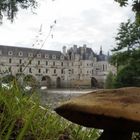
[[[93,91],[63,103],[55,111],[86,127],[139,131],[140,88]]]

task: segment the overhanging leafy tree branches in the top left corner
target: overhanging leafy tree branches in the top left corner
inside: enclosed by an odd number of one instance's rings
[[[3,17],[6,16],[13,22],[19,8],[28,9],[36,8],[36,0],[0,0],[0,22],[2,23]]]

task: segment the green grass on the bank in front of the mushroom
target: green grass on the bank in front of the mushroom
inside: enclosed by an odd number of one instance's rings
[[[14,83],[0,88],[0,139],[2,140],[96,140],[96,129],[73,124],[58,116],[38,97]]]

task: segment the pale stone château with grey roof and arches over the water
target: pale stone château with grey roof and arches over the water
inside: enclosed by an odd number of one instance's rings
[[[107,60],[86,45],[64,46],[63,52],[0,45],[0,76],[32,75],[48,87],[97,87],[115,73]]]

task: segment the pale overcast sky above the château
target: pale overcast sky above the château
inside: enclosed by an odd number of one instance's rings
[[[62,46],[87,44],[98,52],[115,45],[114,37],[121,22],[133,18],[130,7],[121,8],[114,0],[39,0],[36,14],[21,10],[14,21],[4,19],[0,26],[0,44],[32,47],[46,40],[42,49],[62,50]],[[54,21],[56,20],[56,24]],[[42,25],[42,35],[39,29]],[[49,34],[50,26],[53,26]],[[53,34],[53,35],[52,35]]]

